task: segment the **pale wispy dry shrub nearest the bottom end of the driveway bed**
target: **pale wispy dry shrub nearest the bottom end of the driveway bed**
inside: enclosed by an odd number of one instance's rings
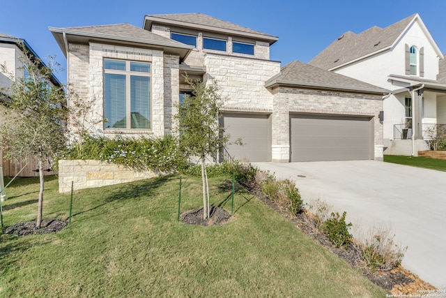
[[[401,248],[395,244],[390,228],[374,226],[365,236],[360,235],[358,238],[361,238],[362,243],[357,242],[354,246],[370,269],[391,270],[401,265],[407,247]]]

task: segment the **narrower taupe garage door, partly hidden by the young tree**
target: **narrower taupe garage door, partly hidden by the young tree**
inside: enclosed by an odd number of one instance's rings
[[[240,138],[243,146],[231,144],[229,155],[239,161],[270,161],[271,126],[268,114],[225,113],[221,125],[231,135],[230,142]]]

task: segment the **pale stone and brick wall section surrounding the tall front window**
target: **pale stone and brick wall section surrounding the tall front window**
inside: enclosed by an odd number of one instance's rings
[[[93,100],[90,115],[93,134],[132,136],[135,133],[162,136],[171,130],[172,111],[179,100],[179,57],[161,50],[90,43],[70,43],[68,80],[79,98]],[[104,63],[105,58],[151,62],[151,130],[105,130]]]

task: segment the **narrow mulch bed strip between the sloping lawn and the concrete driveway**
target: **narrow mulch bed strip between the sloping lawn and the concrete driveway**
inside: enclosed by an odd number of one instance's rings
[[[369,278],[370,281],[378,285],[384,290],[390,291],[392,295],[419,295],[419,290],[436,290],[433,285],[422,281],[417,275],[399,266],[390,271],[372,271],[369,269],[361,258],[360,252],[353,246],[349,248],[337,248],[332,245],[330,239],[314,228],[312,224],[312,216],[303,211],[298,216],[293,216],[291,211],[284,207],[282,204],[272,202],[266,195],[261,192],[261,189],[256,184],[242,184],[250,193],[256,195],[259,200],[268,205],[270,208],[277,211],[279,214],[289,219],[295,224],[302,232],[307,234],[308,237],[314,239],[318,244],[321,244],[328,251],[331,251],[339,258],[348,263],[353,269],[357,269],[364,276]]]

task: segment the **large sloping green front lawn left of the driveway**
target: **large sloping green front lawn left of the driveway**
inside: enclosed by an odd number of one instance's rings
[[[182,206],[201,203],[183,178]],[[210,179],[211,203],[231,210],[230,178]],[[45,184],[44,218],[68,218],[69,195]],[[5,225],[36,218],[38,179],[6,190]],[[178,176],[74,195],[56,234],[0,235],[0,297],[385,297],[386,292],[238,188],[224,225],[178,223]]]

